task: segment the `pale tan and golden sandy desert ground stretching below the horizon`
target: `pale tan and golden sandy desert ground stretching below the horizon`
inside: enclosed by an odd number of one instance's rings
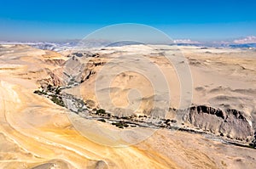
[[[177,63],[189,65],[191,73],[187,76],[192,80],[187,108],[180,108],[182,87],[175,66],[165,57],[177,48],[184,58]],[[158,65],[161,74],[155,76],[165,76],[168,90],[154,90],[147,74],[131,70],[117,74],[109,84],[99,84],[108,82],[117,67],[125,70],[131,63],[150,72],[150,66],[140,65],[139,58],[117,59],[134,54]],[[71,77],[73,83],[68,83]],[[156,83],[160,89],[166,87],[161,85]],[[62,88],[61,96],[79,95],[86,113],[74,113],[73,102],[62,103],[49,96],[47,88],[65,86],[69,87]],[[140,93],[129,96],[134,88]],[[128,45],[79,54],[3,44],[0,92],[0,168],[256,168],[253,48],[179,46],[174,50],[167,45]],[[166,103],[154,97],[165,92],[171,93],[170,100],[166,113],[160,115],[160,106]],[[104,98],[107,96],[111,104]],[[158,111],[153,104],[159,106]],[[111,117],[103,115],[104,121],[99,121],[95,115],[99,109],[107,110]],[[183,112],[180,124],[174,121],[178,112]],[[128,117],[135,122],[158,122],[159,126],[111,124]],[[143,139],[132,139],[136,136]]]

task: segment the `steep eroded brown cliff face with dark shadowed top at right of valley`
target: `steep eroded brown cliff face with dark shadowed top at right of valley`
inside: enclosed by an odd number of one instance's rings
[[[206,105],[192,106],[184,116],[195,127],[240,141],[253,139],[251,119],[238,110],[220,110]]]

